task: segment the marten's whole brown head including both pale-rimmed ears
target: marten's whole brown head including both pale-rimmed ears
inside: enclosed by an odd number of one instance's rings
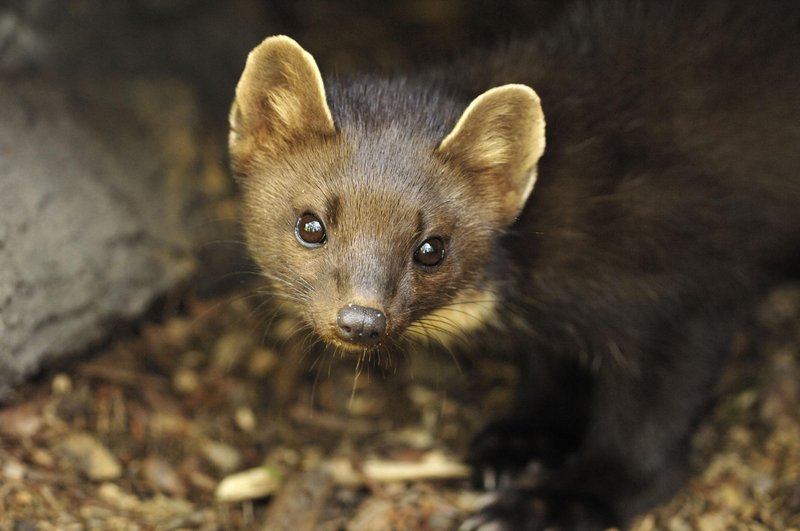
[[[250,53],[236,88],[232,167],[273,289],[324,341],[361,353],[495,318],[489,268],[536,181],[539,98],[504,85],[463,110],[402,80],[332,88],[282,36]]]

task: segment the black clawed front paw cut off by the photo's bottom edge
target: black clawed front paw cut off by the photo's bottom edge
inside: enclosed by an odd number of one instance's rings
[[[459,531],[601,531],[616,518],[600,501],[570,493],[509,489]]]

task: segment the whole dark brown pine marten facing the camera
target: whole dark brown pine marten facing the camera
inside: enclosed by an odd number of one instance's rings
[[[404,76],[250,53],[230,155],[274,291],[355,355],[520,360],[469,455],[518,479],[465,529],[624,526],[673,493],[733,332],[800,273],[800,9],[740,4],[579,4]]]

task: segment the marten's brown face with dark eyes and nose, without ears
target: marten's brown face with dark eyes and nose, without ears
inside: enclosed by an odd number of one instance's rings
[[[453,184],[457,171],[433,156],[435,146],[349,136],[250,173],[251,252],[274,290],[329,343],[372,349],[426,316],[438,335],[448,322],[431,313],[463,299],[491,260],[492,220],[479,198]],[[486,306],[486,297],[467,298]],[[466,320],[473,311],[453,309]]]

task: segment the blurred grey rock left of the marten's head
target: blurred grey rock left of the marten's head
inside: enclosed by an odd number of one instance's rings
[[[0,82],[0,398],[192,273],[198,112],[170,80]]]

